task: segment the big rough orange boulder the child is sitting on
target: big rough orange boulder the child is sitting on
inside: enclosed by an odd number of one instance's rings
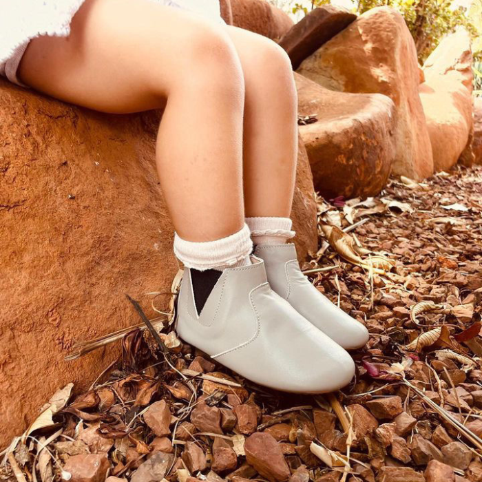
[[[171,286],[178,264],[154,163],[158,117],[98,114],[0,81],[0,447],[58,388],[85,388],[118,355],[109,346],[64,361],[74,342],[138,324],[125,293],[154,316],[145,293]],[[317,247],[303,143],[297,174],[302,258]]]

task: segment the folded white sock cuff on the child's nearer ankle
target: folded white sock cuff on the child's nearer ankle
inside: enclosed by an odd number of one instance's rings
[[[187,268],[199,271],[247,266],[253,250],[250,234],[247,224],[226,238],[206,242],[186,241],[174,233],[174,254]]]

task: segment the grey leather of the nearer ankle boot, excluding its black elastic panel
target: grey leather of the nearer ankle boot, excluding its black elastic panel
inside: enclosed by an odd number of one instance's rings
[[[242,377],[276,390],[324,393],[346,386],[355,373],[350,355],[271,289],[260,258],[251,260],[222,271],[200,315],[185,269],[178,335]]]

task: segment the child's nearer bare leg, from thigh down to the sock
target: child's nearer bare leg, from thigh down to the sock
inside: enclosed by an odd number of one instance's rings
[[[204,242],[242,229],[244,81],[222,25],[143,0],[87,0],[67,39],[30,43],[19,76],[103,112],[165,106],[157,164],[176,232]]]

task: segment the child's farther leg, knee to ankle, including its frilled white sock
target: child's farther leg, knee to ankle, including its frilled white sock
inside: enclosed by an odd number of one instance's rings
[[[289,56],[273,41],[227,27],[242,63],[244,205],[255,244],[293,237],[291,204],[297,159],[297,95]]]

